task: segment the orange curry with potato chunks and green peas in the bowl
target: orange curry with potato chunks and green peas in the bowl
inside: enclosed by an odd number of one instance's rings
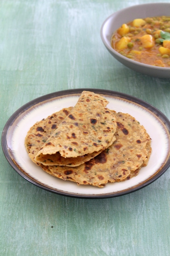
[[[111,46],[134,61],[170,68],[170,17],[135,19],[112,35]]]

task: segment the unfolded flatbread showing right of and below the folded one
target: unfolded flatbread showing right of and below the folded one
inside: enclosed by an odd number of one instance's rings
[[[116,140],[90,161],[78,167],[44,166],[44,171],[78,185],[104,187],[136,176],[151,154],[151,139],[145,128],[129,114],[117,113]]]

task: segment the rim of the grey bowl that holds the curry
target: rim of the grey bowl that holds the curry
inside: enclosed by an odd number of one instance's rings
[[[143,66],[143,67],[146,67],[146,68],[150,68],[150,69],[153,69],[153,70],[167,70],[167,71],[170,71],[170,67],[159,67],[159,66],[153,66],[153,65],[149,65],[149,64],[145,64],[145,63],[142,63],[142,62],[138,62],[138,61],[134,61],[134,60],[131,60],[131,59],[128,59],[127,57],[121,55],[119,52],[117,52],[116,50],[114,50],[111,45],[109,45],[107,43],[107,41],[105,40],[105,34],[104,34],[104,27],[106,26],[106,23],[109,21],[109,20],[113,20],[114,16],[117,16],[119,13],[121,14],[121,12],[123,11],[126,11],[126,10],[130,10],[130,9],[133,9],[134,7],[141,7],[141,6],[159,6],[159,5],[167,5],[170,7],[170,2],[158,2],[158,3],[146,3],[146,4],[138,4],[138,5],[132,5],[132,6],[129,6],[129,7],[125,7],[123,9],[120,9],[116,12],[113,12],[111,15],[109,15],[103,22],[102,26],[101,26],[101,29],[100,29],[100,37],[105,45],[105,47],[108,49],[109,52],[112,52],[114,55],[116,55],[118,58],[121,58],[123,59],[124,61],[127,61],[127,62],[130,62],[132,64],[135,64],[135,65],[138,65],[138,66]],[[111,39],[111,38],[110,38]]]

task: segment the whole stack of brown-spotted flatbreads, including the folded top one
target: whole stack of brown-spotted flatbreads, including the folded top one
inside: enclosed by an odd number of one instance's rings
[[[150,137],[132,116],[107,104],[84,91],[74,107],[34,124],[25,138],[29,157],[47,173],[78,185],[103,187],[136,176],[150,157]]]

